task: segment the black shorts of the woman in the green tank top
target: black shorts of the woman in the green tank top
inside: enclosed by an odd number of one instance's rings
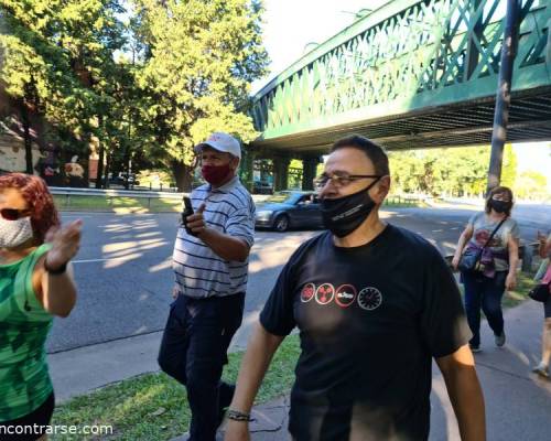
[[[39,438],[41,438],[45,433],[45,426],[50,424],[50,421],[52,420],[52,415],[54,413],[54,407],[55,407],[55,396],[54,392],[52,392],[44,404],[39,407],[36,410],[32,411],[29,415],[25,415],[24,417],[11,420],[11,421],[0,421],[0,440],[2,441],[35,441]],[[32,431],[33,433],[30,433],[29,428],[34,429],[34,424],[36,424],[36,431]],[[17,427],[22,427],[22,429],[12,429]],[[10,428],[8,431],[7,429]],[[25,431],[26,429],[26,431]],[[22,434],[15,434],[17,432],[20,432]],[[9,432],[12,432],[10,434]]]

